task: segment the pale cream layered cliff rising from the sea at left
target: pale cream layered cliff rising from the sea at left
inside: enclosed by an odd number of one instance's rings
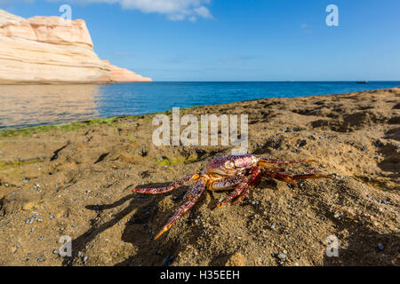
[[[23,19],[0,10],[0,83],[118,82],[114,77],[93,51],[84,20]],[[141,78],[128,76],[124,82]]]

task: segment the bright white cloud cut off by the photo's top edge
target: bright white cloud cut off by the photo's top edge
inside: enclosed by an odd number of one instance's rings
[[[139,10],[140,12],[145,13],[155,12],[164,14],[169,20],[195,21],[198,17],[212,19],[212,13],[204,6],[210,4],[211,0],[70,0],[69,2],[80,4],[121,4],[124,9]]]

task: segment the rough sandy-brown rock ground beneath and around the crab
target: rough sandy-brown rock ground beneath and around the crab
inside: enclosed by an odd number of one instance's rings
[[[154,114],[16,132],[0,138],[0,265],[400,264],[400,88],[180,113],[249,114],[251,154],[316,159],[334,178],[297,189],[266,179],[215,210],[227,193],[207,192],[152,241],[188,186],[156,196],[132,186],[166,185],[229,146],[154,146]],[[59,256],[63,235],[71,257]],[[337,257],[325,254],[331,235]]]

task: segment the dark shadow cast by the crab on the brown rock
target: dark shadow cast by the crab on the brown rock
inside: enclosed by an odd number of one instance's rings
[[[169,183],[140,185],[138,187],[161,187],[165,185],[169,185]],[[131,188],[133,188],[132,185],[129,185],[125,190]],[[116,265],[162,265],[163,263],[165,264],[166,256],[170,256],[166,264],[172,262],[173,259],[171,256],[174,255],[173,252],[179,250],[179,246],[171,242],[165,247],[165,243],[152,241],[154,235],[148,226],[149,222],[151,224],[156,223],[157,203],[160,197],[162,198],[163,196],[132,193],[111,204],[86,206],[86,209],[96,211],[98,213],[97,217],[100,218],[104,211],[117,208],[126,201],[129,201],[129,204],[123,210],[116,213],[111,220],[105,223],[97,225],[95,219],[92,219],[91,228],[72,240],[72,256],[65,257],[63,265],[73,264],[74,260],[80,257],[78,256],[79,252],[84,251],[87,245],[93,241],[97,235],[118,224],[133,211],[135,211],[135,213],[129,217],[129,222],[125,224],[122,241],[131,242],[134,247],[139,250],[135,256]]]

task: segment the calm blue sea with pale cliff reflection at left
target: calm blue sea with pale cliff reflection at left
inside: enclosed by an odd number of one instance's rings
[[[204,82],[109,85],[0,85],[0,129],[150,114],[173,106],[292,98],[393,88],[400,82]]]

